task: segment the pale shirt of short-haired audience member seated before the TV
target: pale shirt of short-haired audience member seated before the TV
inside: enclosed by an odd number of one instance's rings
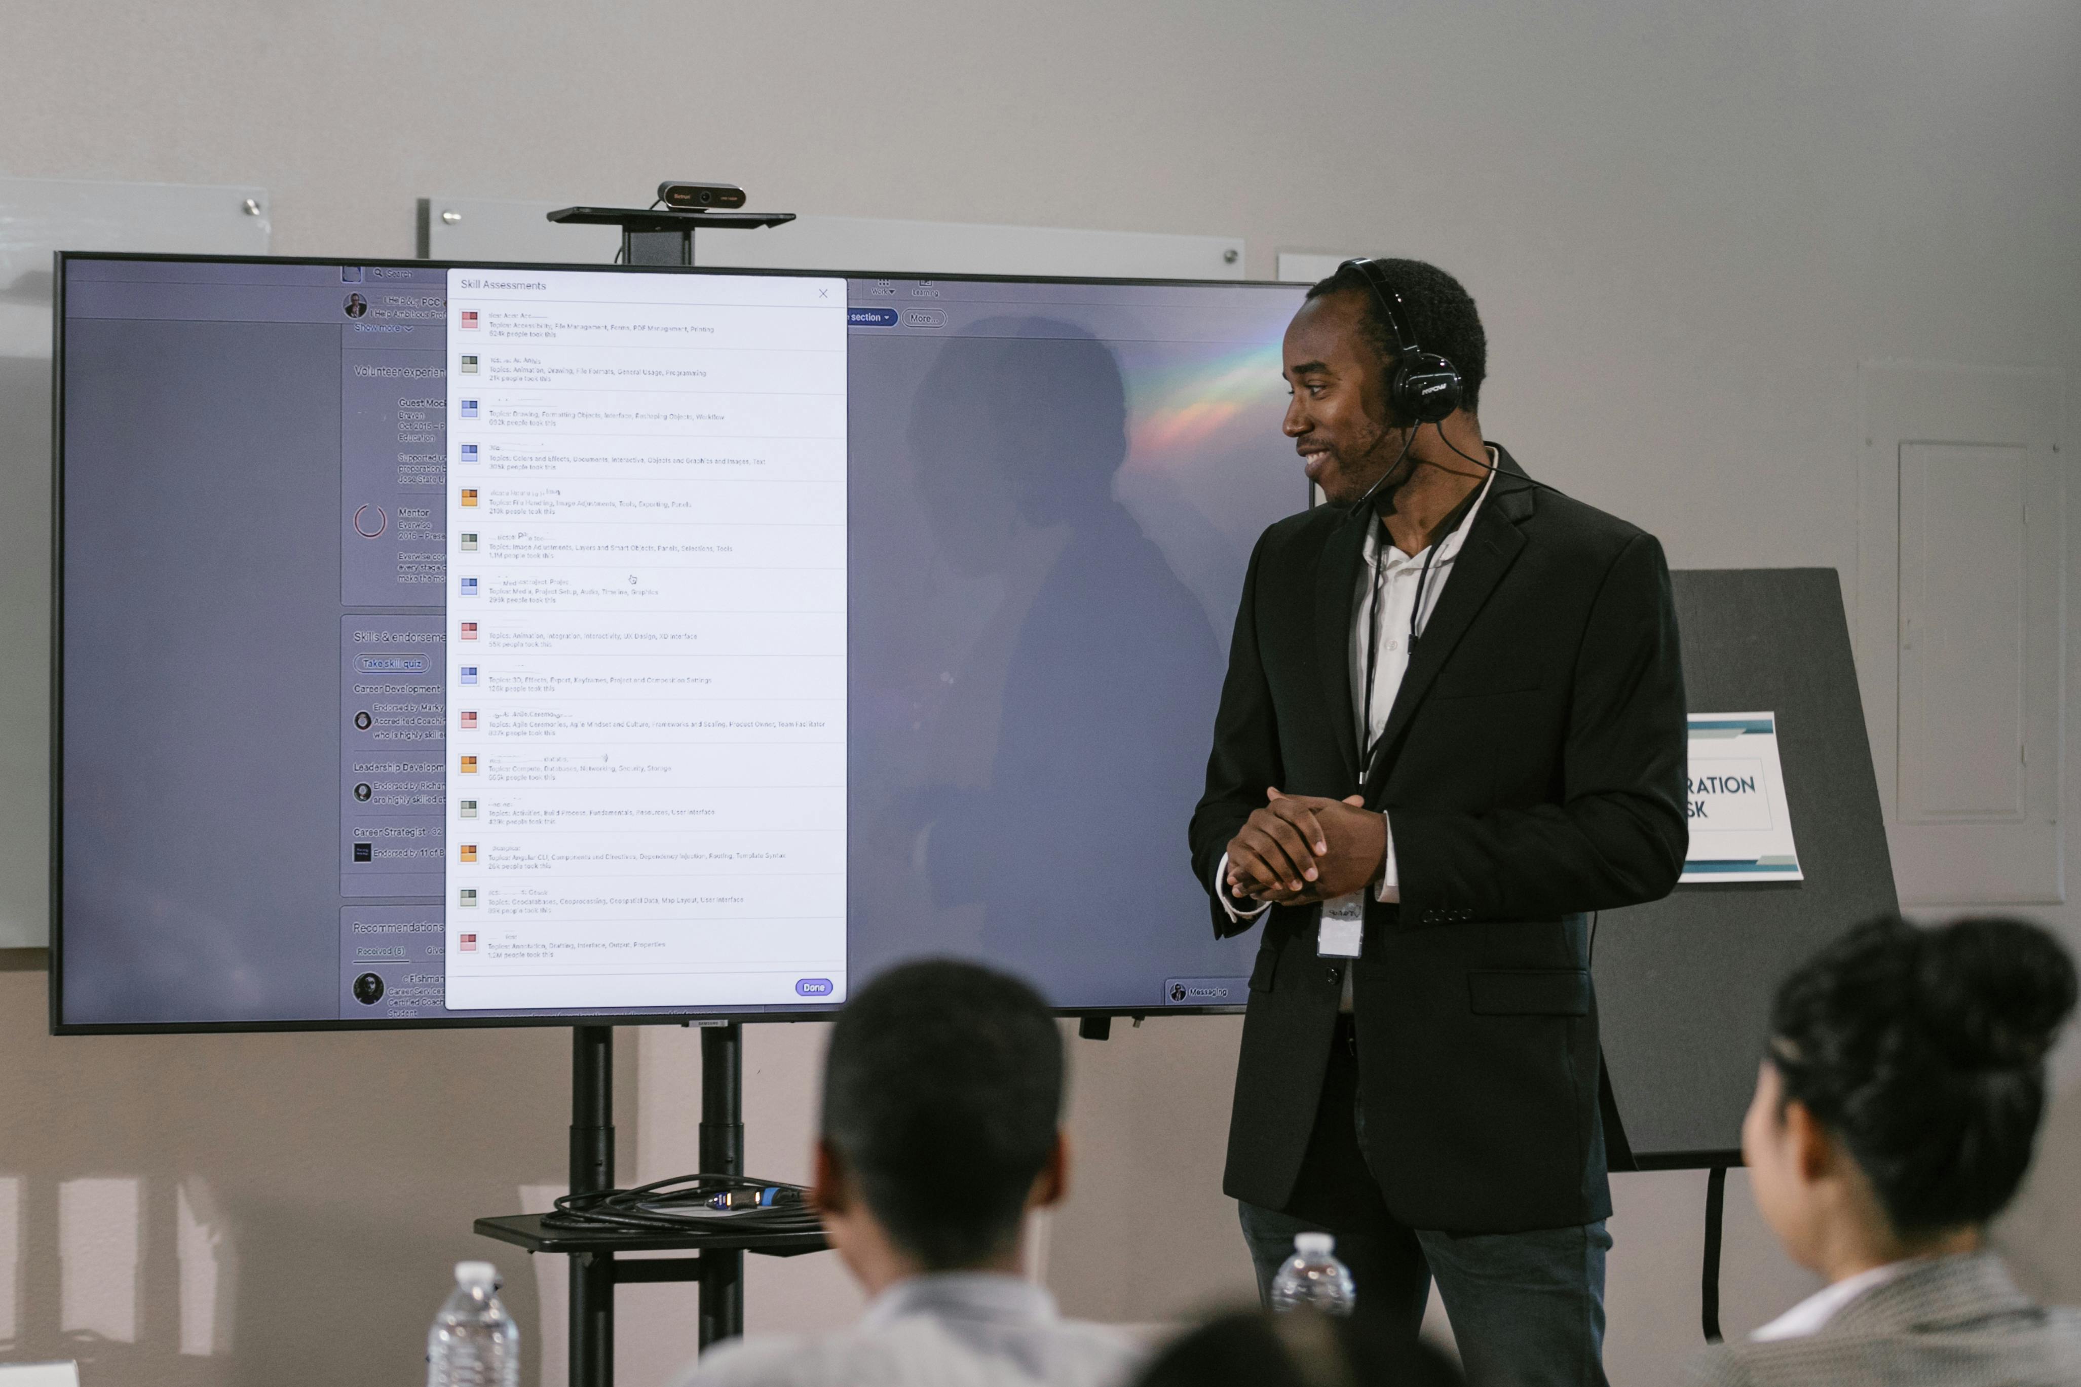
[[[1115,1387],[1142,1350],[1065,1320],[1024,1277],[934,1273],[897,1281],[851,1329],[760,1335],[701,1354],[680,1387]]]

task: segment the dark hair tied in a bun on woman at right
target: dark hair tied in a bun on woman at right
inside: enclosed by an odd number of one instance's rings
[[[2016,1194],[2075,965],[2037,925],[1867,921],[1777,990],[1771,1063],[1871,1179],[1894,1231],[1985,1223]]]

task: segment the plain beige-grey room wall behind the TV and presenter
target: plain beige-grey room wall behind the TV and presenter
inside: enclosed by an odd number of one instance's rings
[[[0,173],[258,183],[283,254],[410,254],[412,200],[433,191],[612,202],[678,175],[805,212],[1240,231],[1259,277],[1280,247],[1428,256],[1482,302],[1488,433],[1656,530],[1677,566],[1823,564],[1854,593],[1856,362],[2081,364],[2081,10],[2058,0],[17,0],[0,33]],[[2075,688],[2073,628],[2066,651]],[[2071,774],[2062,796],[2075,844]],[[2039,917],[2081,942],[2075,907]],[[264,1383],[331,1323],[306,1381],[404,1381],[441,1262],[472,1252],[468,1216],[558,1179],[556,1033],[52,1042],[40,984],[0,975],[10,1356],[85,1352],[98,1383]],[[691,1164],[689,1042],[624,1046],[626,1173]],[[814,1042],[753,1038],[751,1150],[774,1173],[801,1169]],[[1219,1019],[1076,1046],[1086,1162],[1049,1252],[1076,1312],[1140,1320],[1244,1289],[1217,1192],[1234,1046]],[[2081,1300],[2081,1073],[2062,1073],[2004,1241],[2039,1289]],[[65,1248],[60,1208],[129,1208],[114,1185],[65,1204],[81,1179],[139,1181],[135,1343],[65,1329],[60,1252],[127,1256]],[[1702,1187],[1617,1181],[1621,1387],[1696,1343]],[[1729,1202],[1727,1325],[1744,1331],[1804,1283],[1740,1175]],[[177,1252],[198,1246],[237,1308],[183,1354],[200,1273]],[[535,1316],[539,1291],[516,1287]],[[293,1331],[268,1325],[277,1304]],[[828,1258],[751,1283],[753,1325],[853,1304]],[[626,1306],[624,1381],[656,1381],[687,1302]]]

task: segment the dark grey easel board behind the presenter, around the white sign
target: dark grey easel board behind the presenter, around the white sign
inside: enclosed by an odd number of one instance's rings
[[[1850,925],[1896,911],[1879,786],[1831,568],[1671,574],[1692,711],[1777,715],[1804,882],[1679,886],[1604,911],[1604,1065],[1638,1169],[1740,1162],[1779,979]]]

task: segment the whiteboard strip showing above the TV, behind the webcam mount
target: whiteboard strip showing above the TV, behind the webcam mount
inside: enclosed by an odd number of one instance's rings
[[[427,260],[606,264],[616,227],[547,220],[566,202],[425,198]],[[753,208],[760,210],[760,208]],[[1122,279],[1244,279],[1240,235],[993,227],[876,216],[797,216],[757,231],[701,231],[695,264],[753,270],[891,270],[899,274],[1065,274]]]

